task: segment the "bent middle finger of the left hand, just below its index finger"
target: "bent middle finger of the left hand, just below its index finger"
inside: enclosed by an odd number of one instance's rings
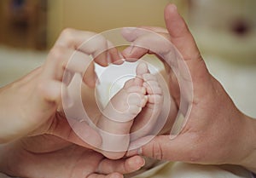
[[[48,59],[44,64],[42,78],[54,79],[68,84],[75,72],[79,72],[83,76],[84,83],[90,87],[95,86],[96,72],[92,57],[77,50],[58,46],[49,52]]]

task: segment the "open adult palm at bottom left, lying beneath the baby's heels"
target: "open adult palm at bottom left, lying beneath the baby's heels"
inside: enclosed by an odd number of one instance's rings
[[[0,172],[15,177],[118,178],[143,164],[143,158],[138,156],[109,160],[54,135],[30,137],[0,146]]]

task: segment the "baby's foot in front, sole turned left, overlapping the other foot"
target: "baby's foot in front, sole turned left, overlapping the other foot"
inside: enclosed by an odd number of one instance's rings
[[[146,73],[148,66],[140,63],[137,66],[137,77],[127,81],[102,112],[97,127],[102,129],[102,154],[107,158],[118,159],[125,155],[130,143],[133,119],[148,102],[147,86],[143,84],[142,78]]]

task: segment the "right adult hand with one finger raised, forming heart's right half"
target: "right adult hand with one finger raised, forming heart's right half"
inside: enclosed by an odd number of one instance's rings
[[[189,90],[193,98],[184,95],[187,108],[191,110],[186,113],[188,120],[179,135],[172,139],[170,135],[155,136],[128,155],[141,153],[151,158],[196,164],[237,164],[256,171],[256,121],[236,108],[222,85],[207,71],[194,38],[174,5],[166,6],[165,20],[167,31],[157,27],[145,28],[166,37],[183,56],[193,84],[193,89]],[[167,44],[160,45],[140,29],[125,29],[123,36],[133,44],[123,51],[127,60],[139,59],[147,53],[167,54]],[[144,46],[148,49],[140,48]],[[177,60],[168,58],[168,55],[165,60],[177,67]],[[179,72],[186,78],[182,68]],[[172,69],[167,70],[167,74],[171,95],[179,107],[183,89],[179,89]]]

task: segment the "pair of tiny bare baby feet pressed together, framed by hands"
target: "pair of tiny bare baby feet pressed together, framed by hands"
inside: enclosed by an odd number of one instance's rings
[[[161,109],[161,89],[146,63],[137,66],[137,76],[127,81],[113,96],[99,118],[97,126],[102,135],[102,153],[108,158],[122,158],[130,144],[131,126],[136,120],[155,121]],[[138,117],[139,116],[139,117]],[[148,117],[148,118],[147,118]],[[143,133],[148,132],[143,130]]]

